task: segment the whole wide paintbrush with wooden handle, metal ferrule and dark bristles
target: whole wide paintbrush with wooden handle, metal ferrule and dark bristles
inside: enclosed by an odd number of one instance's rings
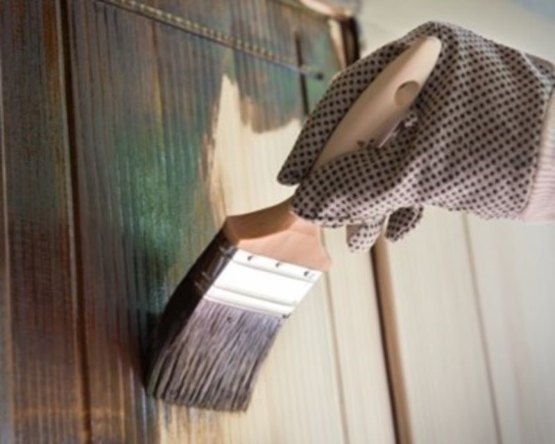
[[[395,58],[341,119],[314,167],[370,140],[383,144],[440,50],[436,37],[422,37]],[[289,199],[225,219],[157,325],[148,393],[189,407],[246,409],[282,323],[330,264],[321,228],[293,214]]]

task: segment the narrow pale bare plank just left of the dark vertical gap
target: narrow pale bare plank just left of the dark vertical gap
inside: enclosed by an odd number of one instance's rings
[[[350,443],[395,443],[388,375],[370,255],[354,255],[343,230],[327,230],[327,276],[343,417]]]

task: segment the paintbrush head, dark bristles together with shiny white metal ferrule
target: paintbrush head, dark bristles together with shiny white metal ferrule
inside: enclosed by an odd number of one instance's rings
[[[280,326],[319,275],[252,255],[220,231],[157,325],[148,393],[189,407],[246,409]]]

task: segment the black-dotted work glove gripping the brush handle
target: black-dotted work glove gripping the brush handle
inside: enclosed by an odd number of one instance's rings
[[[442,42],[438,62],[395,137],[311,171],[327,139],[373,78],[422,35]],[[555,73],[540,60],[465,28],[428,22],[336,76],[305,122],[278,180],[300,183],[293,212],[350,225],[352,251],[385,229],[393,241],[424,205],[513,219],[526,205]]]

